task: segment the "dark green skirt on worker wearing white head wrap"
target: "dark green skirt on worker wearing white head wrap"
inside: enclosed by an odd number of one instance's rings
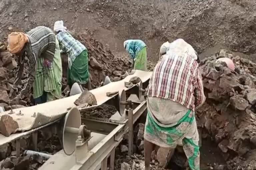
[[[83,50],[74,60],[71,69],[67,72],[68,85],[72,87],[74,83],[86,84],[89,80],[88,52]]]

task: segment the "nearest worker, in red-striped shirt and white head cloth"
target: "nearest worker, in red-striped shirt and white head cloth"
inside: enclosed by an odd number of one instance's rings
[[[205,96],[191,45],[182,39],[172,42],[156,64],[147,92],[147,120],[144,130],[145,169],[150,169],[153,149],[176,147],[182,140],[191,170],[199,170],[199,135],[195,110]]]

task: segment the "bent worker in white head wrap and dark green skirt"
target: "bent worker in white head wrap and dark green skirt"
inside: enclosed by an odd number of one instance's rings
[[[56,21],[53,30],[57,33],[61,50],[68,54],[67,81],[69,87],[71,88],[74,83],[78,83],[79,85],[87,85],[87,89],[91,90],[87,48],[67,32],[63,21]]]

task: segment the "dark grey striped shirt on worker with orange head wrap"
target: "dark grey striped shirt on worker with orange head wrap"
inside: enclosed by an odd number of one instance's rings
[[[14,84],[18,84],[22,78],[24,58],[27,56],[29,59],[29,77],[26,85],[21,90],[18,95],[19,98],[23,98],[28,94],[31,89],[33,82],[35,81],[36,74],[36,63],[38,57],[43,57],[44,59],[52,62],[55,53],[55,41],[56,36],[54,32],[47,27],[39,26],[30,30],[26,35],[29,38],[29,43],[25,44],[25,55],[18,58],[19,71],[14,81]]]

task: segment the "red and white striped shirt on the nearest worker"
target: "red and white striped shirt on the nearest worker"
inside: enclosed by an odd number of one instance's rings
[[[154,68],[147,95],[169,99],[195,111],[205,102],[198,62],[187,54],[163,55]]]

